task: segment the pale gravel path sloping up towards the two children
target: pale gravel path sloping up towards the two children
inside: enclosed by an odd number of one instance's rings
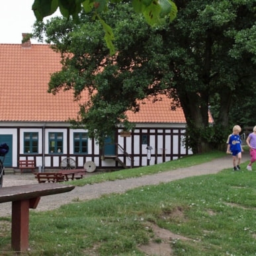
[[[249,153],[244,153],[242,162],[249,161]],[[123,193],[129,189],[141,187],[144,185],[158,185],[159,183],[168,183],[177,179],[183,179],[191,176],[207,175],[218,173],[222,169],[230,168],[232,170],[232,157],[226,155],[221,159],[214,159],[207,163],[194,165],[191,167],[181,168],[174,171],[165,171],[155,175],[145,175],[139,178],[130,178],[117,181],[106,181],[94,185],[85,185],[83,187],[75,187],[73,191],[62,194],[54,194],[50,196],[43,196],[35,209],[35,211],[53,210],[62,204],[68,204],[74,200],[91,200],[98,198],[103,194],[110,194],[112,192]],[[38,183],[34,179],[34,175],[24,173],[22,175],[5,175],[3,178],[3,187],[11,187],[17,185],[27,185]],[[1,189],[0,189],[1,193]],[[0,216],[11,215],[11,202],[0,204]]]

